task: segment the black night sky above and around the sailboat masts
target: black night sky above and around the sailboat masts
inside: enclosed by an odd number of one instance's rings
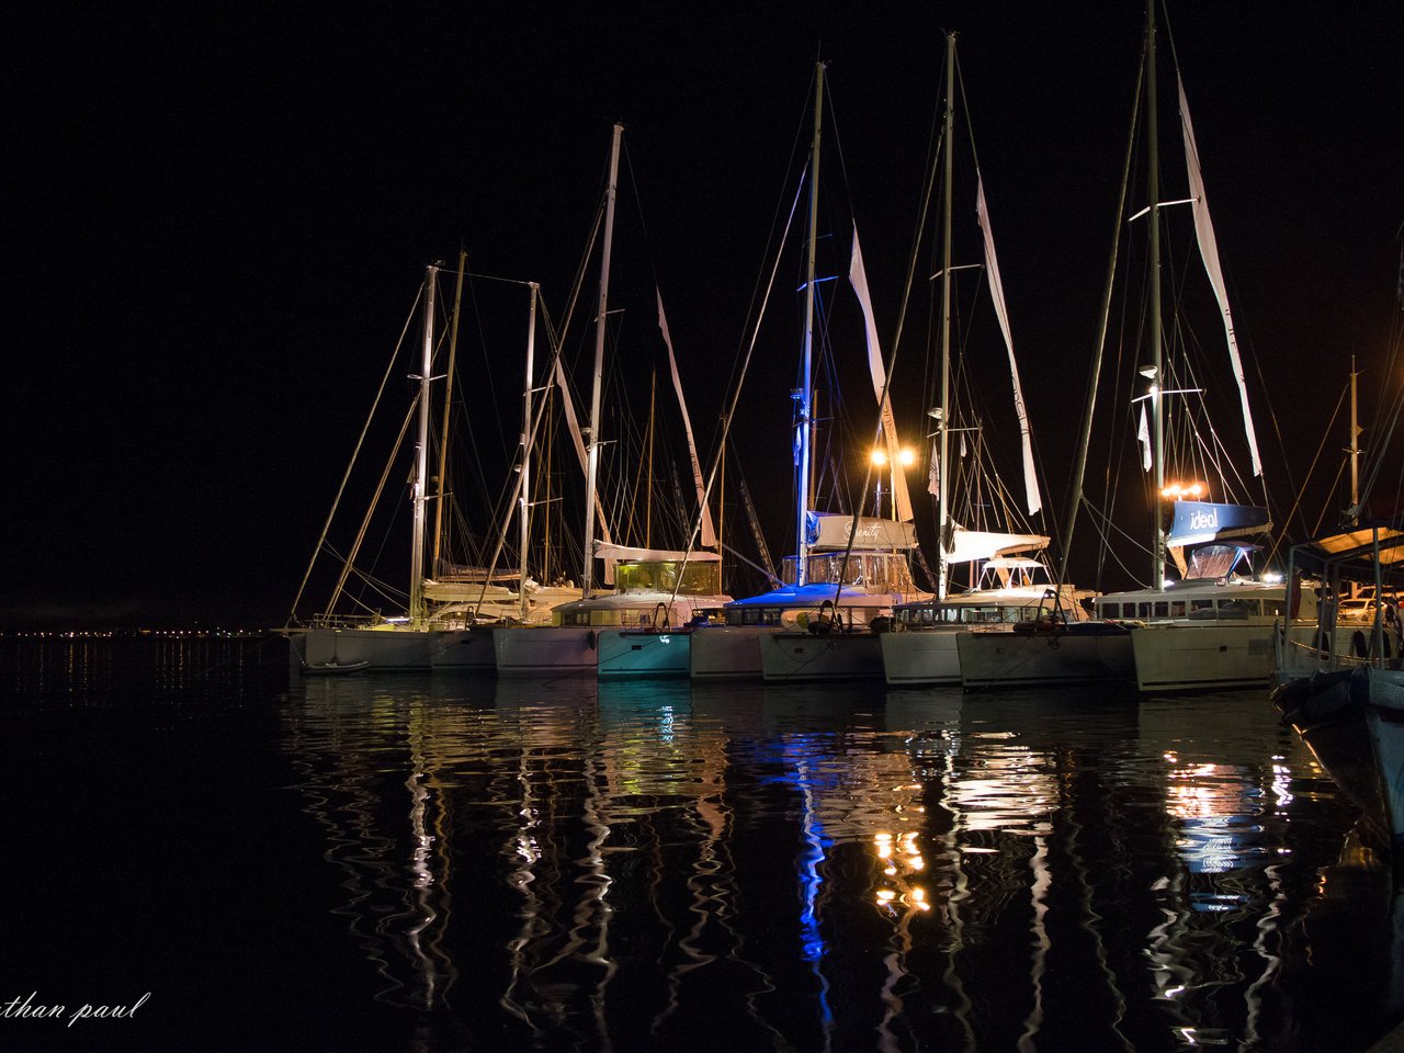
[[[539,281],[562,316],[616,119],[695,418],[720,411],[820,56],[826,171],[890,334],[946,29],[1061,515],[1141,6],[757,7],[11,4],[0,628],[281,625],[424,265],[462,244],[470,271]],[[1290,505],[1349,355],[1372,392],[1398,313],[1404,7],[1168,15],[1259,431],[1275,416],[1283,434],[1287,470],[1264,439],[1269,484]],[[1161,53],[1170,66],[1165,37]],[[484,317],[518,310],[475,291]],[[754,392],[781,435],[747,449],[757,491],[789,486],[792,314],[771,327],[785,365]],[[508,442],[517,395],[493,395]],[[1310,521],[1338,503],[1321,487]]]

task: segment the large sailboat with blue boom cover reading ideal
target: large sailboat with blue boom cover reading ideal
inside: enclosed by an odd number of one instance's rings
[[[1141,414],[1139,438],[1143,445],[1143,466],[1146,472],[1154,472],[1150,490],[1154,503],[1151,583],[1141,590],[1099,597],[1095,601],[1098,619],[1082,626],[1053,626],[1053,632],[1035,632],[1011,640],[995,640],[983,633],[960,636],[958,647],[962,681],[966,685],[1133,678],[1143,692],[1258,685],[1266,684],[1272,674],[1273,639],[1283,619],[1290,623],[1289,632],[1309,632],[1302,615],[1309,614],[1313,602],[1310,590],[1297,590],[1289,595],[1283,581],[1261,578],[1252,573],[1251,555],[1259,548],[1257,539],[1272,529],[1266,508],[1203,500],[1203,483],[1170,482],[1172,476],[1167,472],[1167,399],[1200,393],[1192,382],[1184,388],[1175,386],[1181,382],[1181,373],[1164,355],[1160,236],[1161,212],[1171,205],[1189,205],[1193,211],[1199,253],[1219,303],[1237,382],[1254,476],[1261,477],[1262,465],[1182,83],[1179,115],[1191,197],[1174,202],[1161,201],[1155,79],[1155,6],[1150,0],[1146,13],[1144,67],[1150,146],[1148,204],[1136,216],[1147,218],[1148,223],[1150,364],[1139,371],[1148,380],[1148,390],[1136,403]],[[1129,160],[1130,153],[1127,171]],[[1104,299],[1104,333],[1108,300],[1109,289]],[[1097,357],[1099,361],[1101,347]],[[1095,373],[1097,366],[1094,379]],[[1095,388],[1088,399],[1078,482],[1074,484],[1073,515],[1068,517],[1070,534],[1082,497],[1081,466],[1085,463],[1094,403]],[[1181,416],[1185,421],[1191,420],[1188,413]],[[1205,441],[1198,435],[1193,438]],[[1189,468],[1191,461],[1192,453],[1184,453],[1181,468]],[[1168,534],[1161,525],[1161,505],[1170,507]],[[1179,581],[1167,578],[1167,555],[1181,574]]]

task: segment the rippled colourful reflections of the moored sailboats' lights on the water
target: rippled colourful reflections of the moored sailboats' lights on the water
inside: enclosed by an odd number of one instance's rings
[[[379,998],[500,1043],[1349,1049],[1394,1012],[1379,924],[1353,1002],[1317,1001],[1351,986],[1317,921],[1379,866],[1258,694],[359,677],[289,703]]]

